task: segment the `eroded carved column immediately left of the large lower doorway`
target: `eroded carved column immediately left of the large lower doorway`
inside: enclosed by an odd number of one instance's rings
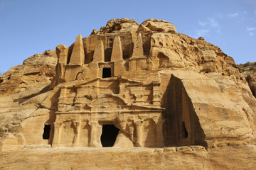
[[[90,121],[89,125],[91,126],[90,132],[90,147],[102,147],[100,142],[99,128],[102,128],[98,121]]]

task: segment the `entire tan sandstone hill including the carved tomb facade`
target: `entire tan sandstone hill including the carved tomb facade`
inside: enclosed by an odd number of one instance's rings
[[[0,80],[1,169],[256,166],[254,78],[172,23],[114,19]]]

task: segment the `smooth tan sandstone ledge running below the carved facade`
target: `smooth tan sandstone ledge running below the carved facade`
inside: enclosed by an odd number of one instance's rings
[[[255,169],[255,145],[204,149],[24,148],[1,152],[1,169]]]

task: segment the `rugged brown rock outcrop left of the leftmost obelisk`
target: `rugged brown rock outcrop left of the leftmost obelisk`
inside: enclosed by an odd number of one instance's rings
[[[11,67],[0,77],[0,96],[50,84],[55,75],[56,64],[55,50],[46,50],[43,54],[36,54],[24,60],[22,65]]]

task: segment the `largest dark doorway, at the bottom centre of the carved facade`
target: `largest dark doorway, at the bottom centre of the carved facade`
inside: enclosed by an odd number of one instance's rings
[[[117,138],[119,129],[114,125],[103,125],[102,135],[100,141],[102,142],[102,147],[112,147]]]

